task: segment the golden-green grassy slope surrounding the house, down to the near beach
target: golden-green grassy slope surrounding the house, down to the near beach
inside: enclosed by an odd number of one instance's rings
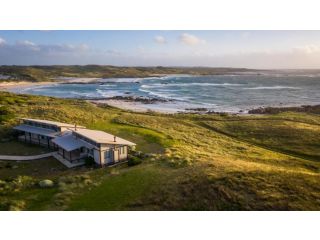
[[[1,161],[3,210],[320,210],[320,115],[133,113],[5,92],[0,106],[2,141],[28,116],[111,132],[148,153],[139,165],[102,169]],[[55,187],[35,184],[46,178]]]

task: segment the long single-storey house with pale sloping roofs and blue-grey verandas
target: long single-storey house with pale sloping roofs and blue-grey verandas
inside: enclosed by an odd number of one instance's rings
[[[126,160],[128,149],[136,144],[112,134],[83,126],[55,121],[22,118],[14,127],[19,140],[57,150],[58,160],[84,163],[91,157],[96,164],[110,165]]]

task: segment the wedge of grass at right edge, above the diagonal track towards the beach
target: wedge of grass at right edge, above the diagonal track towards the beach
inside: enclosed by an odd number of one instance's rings
[[[209,127],[267,148],[320,160],[320,125],[286,120],[210,121]],[[303,144],[301,144],[303,142]]]

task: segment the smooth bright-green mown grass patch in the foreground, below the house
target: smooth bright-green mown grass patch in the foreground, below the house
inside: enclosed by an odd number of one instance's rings
[[[68,210],[126,210],[141,207],[139,199],[157,189],[163,173],[153,165],[131,167],[104,176],[101,184],[73,199]]]

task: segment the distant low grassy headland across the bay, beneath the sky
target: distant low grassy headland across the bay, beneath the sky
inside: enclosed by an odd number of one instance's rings
[[[207,67],[117,67],[103,65],[74,66],[0,66],[0,75],[10,76],[11,81],[52,81],[57,77],[149,77],[161,74],[214,75],[245,72],[244,68]],[[252,71],[252,70],[251,70]],[[8,81],[1,80],[0,81]]]

